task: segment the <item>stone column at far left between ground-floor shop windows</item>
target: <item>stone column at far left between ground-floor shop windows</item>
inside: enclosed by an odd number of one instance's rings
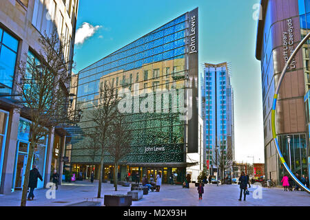
[[[10,194],[13,183],[15,155],[17,148],[17,133],[19,130],[19,109],[11,109],[8,121],[6,149],[3,157],[3,170],[1,179],[1,194]]]

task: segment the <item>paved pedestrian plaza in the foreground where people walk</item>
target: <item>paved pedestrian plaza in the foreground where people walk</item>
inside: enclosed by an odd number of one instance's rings
[[[149,192],[143,199],[132,201],[132,206],[310,206],[310,195],[307,192],[286,192],[282,188],[262,188],[262,198],[254,199],[253,191],[247,201],[238,201],[239,186],[207,184],[203,199],[198,199],[197,188],[191,184],[190,188],[182,186],[163,185],[160,192]],[[75,181],[63,183],[56,190],[56,199],[47,199],[48,189],[34,191],[34,200],[27,201],[27,206],[100,206],[103,199],[97,199],[98,181]],[[127,194],[130,187],[118,186],[114,191],[113,184],[103,184],[101,195]],[[10,195],[0,195],[0,206],[19,206],[21,191]],[[89,201],[85,203],[85,201]]]

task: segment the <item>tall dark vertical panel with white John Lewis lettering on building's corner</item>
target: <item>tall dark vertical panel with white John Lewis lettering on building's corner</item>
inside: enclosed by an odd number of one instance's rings
[[[187,153],[198,153],[198,8],[188,12],[188,76],[192,118],[187,122]]]

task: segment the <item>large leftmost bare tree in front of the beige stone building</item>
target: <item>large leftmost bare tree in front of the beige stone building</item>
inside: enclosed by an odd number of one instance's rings
[[[28,56],[28,61],[19,63],[19,80],[15,82],[17,92],[24,103],[22,111],[32,121],[30,124],[30,148],[25,180],[21,197],[21,206],[25,206],[30,164],[34,149],[40,144],[54,126],[67,122],[68,85],[72,61],[66,61],[63,54],[68,46],[63,42],[56,30],[48,36],[46,33],[39,38],[41,50],[38,56]],[[27,56],[27,54],[26,54]]]

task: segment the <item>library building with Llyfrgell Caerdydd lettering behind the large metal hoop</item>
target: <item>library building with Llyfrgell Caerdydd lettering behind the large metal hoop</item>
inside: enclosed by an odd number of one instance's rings
[[[278,78],[289,56],[309,30],[310,1],[261,1],[256,58],[261,61],[265,175],[280,184],[282,167],[272,139],[271,109]],[[309,42],[287,69],[276,106],[276,134],[293,173],[309,175]],[[289,142],[290,138],[290,142]]]

